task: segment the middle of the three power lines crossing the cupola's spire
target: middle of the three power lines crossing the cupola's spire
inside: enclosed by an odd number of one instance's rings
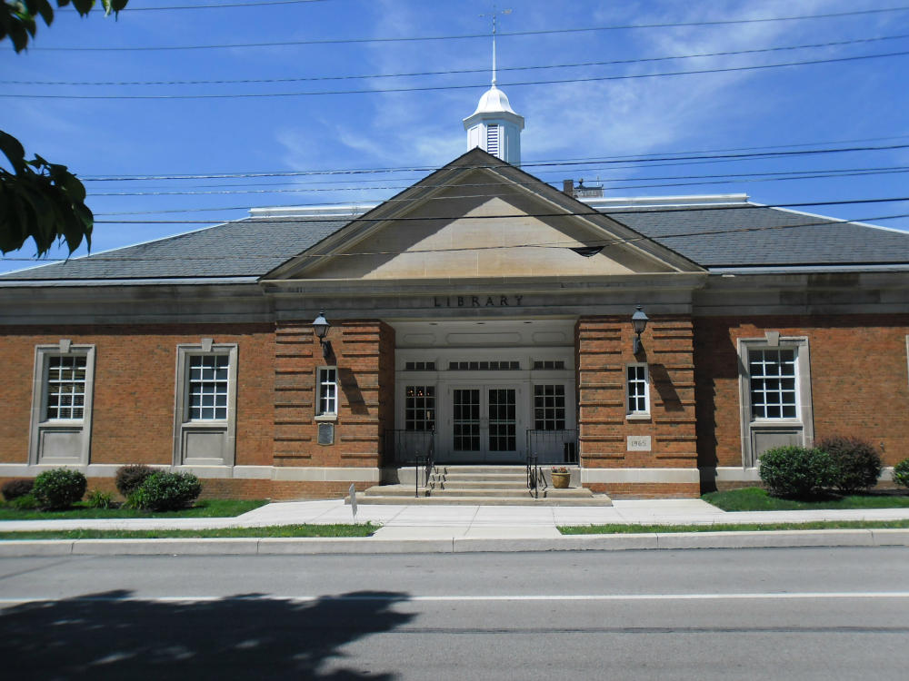
[[[148,9],[157,9],[149,7]],[[675,54],[670,56],[640,57],[636,59],[614,59],[605,62],[580,62],[575,64],[548,64],[534,66],[500,66],[498,71],[534,71],[542,69],[581,68],[589,66],[608,66],[615,64],[643,64],[647,62],[664,62],[674,59],[700,59],[715,56],[735,56],[740,54],[762,54],[768,52],[784,52],[790,50],[815,49],[821,47],[840,47],[847,44],[864,44],[881,42],[884,40],[902,40],[909,34],[884,35],[874,38],[856,38],[854,40],[839,40],[830,43],[814,43],[786,45],[775,47],[762,47],[753,50],[733,50],[727,52],[704,52],[700,54]],[[268,83],[303,83],[312,81],[340,81],[340,80],[371,80],[378,78],[410,78],[424,75],[457,75],[457,74],[484,74],[488,68],[481,69],[451,69],[445,71],[416,71],[405,74],[365,74],[365,75],[320,75],[296,78],[244,78],[235,80],[193,80],[193,81],[0,81],[7,85],[223,85],[223,84],[268,84]]]

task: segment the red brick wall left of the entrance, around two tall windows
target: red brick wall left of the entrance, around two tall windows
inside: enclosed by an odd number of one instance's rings
[[[176,346],[213,338],[238,344],[236,463],[270,465],[274,331],[270,324],[12,328],[0,336],[0,461],[25,463],[35,345],[66,338],[95,345],[92,463],[173,460]]]

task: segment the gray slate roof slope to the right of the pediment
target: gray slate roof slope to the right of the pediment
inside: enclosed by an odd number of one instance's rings
[[[909,232],[754,203],[606,214],[707,269],[909,263]]]

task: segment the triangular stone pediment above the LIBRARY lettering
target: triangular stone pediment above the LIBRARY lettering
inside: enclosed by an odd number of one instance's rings
[[[590,254],[599,246],[601,251]],[[474,150],[267,279],[547,278],[699,270],[586,204]]]

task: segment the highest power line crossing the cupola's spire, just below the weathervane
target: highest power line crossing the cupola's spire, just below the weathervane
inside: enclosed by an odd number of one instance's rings
[[[679,23],[657,24],[624,24],[608,26],[584,26],[580,28],[550,28],[535,31],[505,31],[497,33],[498,36],[520,35],[552,35],[552,34],[577,34],[594,33],[598,31],[622,31],[646,28],[678,28],[686,26],[723,26],[735,24],[765,24],[770,22],[803,21],[810,19],[831,19],[845,16],[881,15],[886,13],[904,12],[909,7],[886,7],[883,9],[866,9],[854,12],[832,12],[820,15],[795,15],[772,16],[754,19],[718,19],[714,21],[692,21]],[[368,43],[415,43],[424,41],[441,40],[466,40],[473,38],[488,39],[489,34],[464,34],[464,35],[420,35],[413,37],[378,37],[378,38],[322,38],[318,40],[278,41],[272,43],[241,43],[241,44],[205,44],[205,45],[134,45],[130,47],[33,47],[33,50],[47,52],[149,52],[165,50],[215,50],[237,49],[247,47],[285,47],[305,44],[368,44]]]

